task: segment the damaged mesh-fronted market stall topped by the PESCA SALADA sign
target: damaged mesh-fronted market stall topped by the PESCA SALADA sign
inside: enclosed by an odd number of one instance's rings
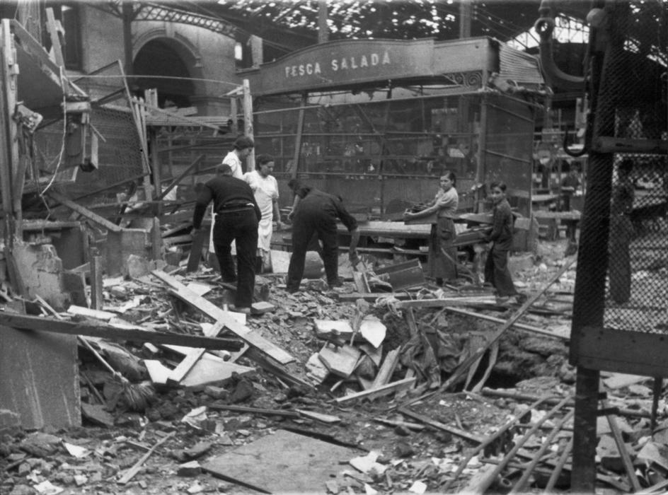
[[[341,194],[376,217],[433,194],[444,168],[463,211],[483,185],[507,182],[531,210],[538,62],[488,37],[346,40],[309,47],[243,73],[256,147],[272,153],[282,197],[292,177]]]

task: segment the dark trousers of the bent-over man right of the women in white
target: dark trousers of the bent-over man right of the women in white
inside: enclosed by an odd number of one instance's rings
[[[287,290],[297,291],[304,275],[306,250],[313,233],[323,243],[322,258],[327,283],[338,282],[338,242],[336,219],[321,209],[298,209],[292,222],[292,256],[287,270]]]

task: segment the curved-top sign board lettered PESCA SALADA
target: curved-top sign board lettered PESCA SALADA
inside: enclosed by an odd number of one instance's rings
[[[434,40],[345,40],[299,50],[249,74],[254,95],[432,76]]]

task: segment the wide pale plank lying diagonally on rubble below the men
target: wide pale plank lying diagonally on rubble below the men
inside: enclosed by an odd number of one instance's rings
[[[276,344],[269,342],[253,330],[250,330],[246,325],[241,325],[236,322],[236,320],[231,318],[231,316],[224,310],[221,310],[217,305],[202,296],[197,296],[196,293],[188,290],[185,285],[181,284],[173,276],[169,276],[160,270],[153,270],[151,273],[175,289],[175,295],[178,296],[178,298],[183,299],[183,301],[199,309],[202,313],[209,315],[211,318],[214,318],[214,320],[223,322],[228,330],[236,334],[238,337],[241,337],[241,339],[248,342],[251,346],[263,351],[279,363],[285,364],[294,361],[294,357],[286,351],[278,347]]]

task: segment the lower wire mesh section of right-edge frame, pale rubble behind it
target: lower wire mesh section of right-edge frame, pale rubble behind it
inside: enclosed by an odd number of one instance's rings
[[[616,156],[604,325],[668,332],[665,157]]]

